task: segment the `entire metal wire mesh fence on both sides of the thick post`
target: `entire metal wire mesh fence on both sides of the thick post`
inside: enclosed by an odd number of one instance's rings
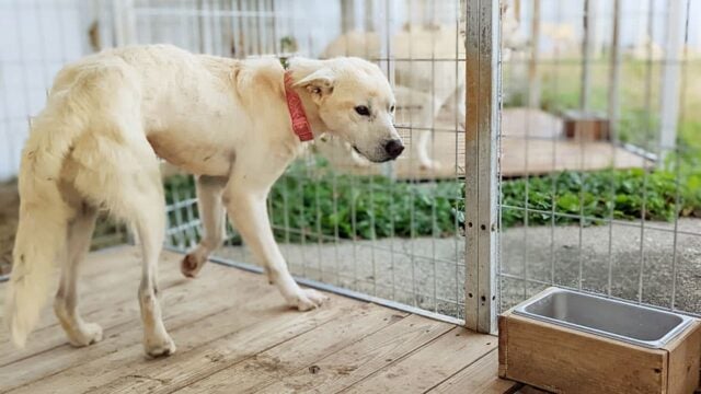
[[[555,285],[699,315],[701,5],[502,1],[502,51],[493,54],[501,58],[487,70],[503,69],[496,97],[466,77],[483,65],[466,50],[466,39],[473,48],[481,43],[470,23],[496,26],[484,18],[490,9],[475,4],[1,0],[10,28],[0,39],[11,50],[1,62],[8,143],[0,177],[16,171],[27,117],[43,105],[51,76],[84,54],[171,43],[241,59],[360,56],[392,83],[407,149],[397,162],[369,165],[327,136],[283,175],[268,200],[271,225],[298,278],[462,322],[478,294],[472,280],[486,280],[471,277],[466,264],[482,247],[470,234],[483,227],[498,233],[497,253],[479,259],[496,269],[498,310]],[[466,111],[492,106],[502,128],[497,119],[489,143],[471,146]],[[498,166],[484,149],[498,155]],[[171,170],[166,245],[186,251],[202,236],[195,186]],[[473,183],[480,171],[486,173]],[[482,181],[491,176],[498,222],[473,229],[472,218],[491,202],[478,200],[484,190],[466,192],[466,183],[489,186]],[[114,229],[107,235],[123,240],[124,227]],[[255,269],[235,225],[214,258]]]

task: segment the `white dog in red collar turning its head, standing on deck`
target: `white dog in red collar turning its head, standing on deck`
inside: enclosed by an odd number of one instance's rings
[[[77,310],[78,267],[99,207],[134,224],[143,258],[139,303],[147,355],[175,351],[161,320],[157,266],[165,210],[158,157],[197,174],[204,239],[181,265],[195,276],[223,242],[229,213],[291,306],[324,297],[290,276],[269,228],[266,197],[302,147],[327,132],[372,162],[404,149],[394,96],[376,66],[357,58],[232,60],[172,46],[115,49],[62,69],[22,154],[20,224],[5,320],[23,346],[62,273],[54,309],[71,344],[102,338]]]

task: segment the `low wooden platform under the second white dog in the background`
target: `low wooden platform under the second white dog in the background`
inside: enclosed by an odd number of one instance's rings
[[[398,121],[400,123],[400,121]],[[464,132],[456,132],[455,120],[439,117],[430,144],[432,157],[440,162],[437,170],[418,169],[407,148],[393,164],[399,179],[446,179],[464,176]],[[404,141],[410,132],[400,129]],[[506,108],[502,113],[502,175],[506,177],[544,175],[564,170],[596,171],[609,167],[635,169],[650,161],[608,141],[579,142],[562,137],[562,119],[539,109]],[[354,174],[383,174],[379,165],[357,167],[346,161],[340,170]]]

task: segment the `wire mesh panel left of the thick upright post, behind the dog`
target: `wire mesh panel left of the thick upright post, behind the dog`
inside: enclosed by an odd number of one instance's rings
[[[120,7],[124,3],[119,4]],[[248,58],[358,56],[390,78],[406,153],[370,164],[323,136],[275,184],[271,225],[290,270],[336,291],[464,316],[464,11],[459,1],[147,1],[125,36]],[[235,125],[232,125],[235,127]],[[166,176],[168,244],[200,237],[194,179]],[[229,227],[225,262],[254,263]]]

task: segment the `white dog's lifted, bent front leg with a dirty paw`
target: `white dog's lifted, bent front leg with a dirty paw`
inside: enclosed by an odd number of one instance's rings
[[[200,175],[197,177],[197,208],[203,224],[204,236],[199,244],[181,262],[184,276],[194,278],[207,263],[209,254],[221,246],[226,234],[226,213],[221,195],[227,178]]]

